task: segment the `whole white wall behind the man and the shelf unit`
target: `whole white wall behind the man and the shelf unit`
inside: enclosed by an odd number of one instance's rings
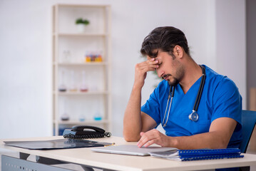
[[[113,135],[122,135],[134,66],[143,60],[140,45],[157,26],[183,30],[195,61],[230,76],[236,83],[241,81],[237,86],[246,99],[245,67],[240,67],[245,63],[245,51],[240,48],[245,44],[245,0],[226,0],[225,6],[232,7],[225,9],[220,8],[221,0],[1,0],[0,138],[51,135],[51,6],[56,3],[112,6]],[[222,19],[218,15],[222,13],[242,17]],[[242,30],[228,32],[237,24]],[[227,48],[219,46],[222,28],[228,32],[224,35]],[[233,43],[237,35],[240,43]],[[232,56],[227,52],[231,49]],[[225,65],[220,65],[223,53]],[[153,90],[155,78],[148,74],[143,102]]]

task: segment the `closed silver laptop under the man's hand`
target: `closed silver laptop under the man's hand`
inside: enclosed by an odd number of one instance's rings
[[[93,147],[93,152],[106,152],[121,155],[150,155],[149,152],[163,152],[177,150],[174,147],[138,147],[137,145],[112,145],[107,147]]]

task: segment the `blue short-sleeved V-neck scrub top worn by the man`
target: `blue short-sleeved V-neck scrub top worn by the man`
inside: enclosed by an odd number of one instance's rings
[[[242,140],[242,97],[238,88],[230,78],[215,73],[208,66],[205,66],[205,73],[205,86],[198,107],[198,121],[193,122],[188,115],[192,113],[202,77],[185,94],[180,84],[175,86],[168,123],[164,127],[165,134],[176,137],[208,133],[213,120],[227,117],[237,121],[227,147],[239,147]],[[163,123],[169,90],[168,81],[161,81],[145,105],[141,107],[141,111],[150,115],[158,125]],[[167,115],[168,110],[166,118]]]

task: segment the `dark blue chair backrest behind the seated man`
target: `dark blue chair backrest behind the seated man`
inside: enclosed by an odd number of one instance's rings
[[[252,131],[256,124],[256,111],[242,110],[242,142],[240,143],[241,152],[246,152]]]

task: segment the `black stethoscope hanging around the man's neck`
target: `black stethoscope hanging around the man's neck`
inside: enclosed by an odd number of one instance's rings
[[[203,87],[205,86],[205,76],[206,76],[205,75],[205,67],[203,67],[203,66],[200,66],[200,67],[202,68],[203,75],[202,75],[202,79],[201,79],[201,82],[200,82],[200,87],[198,89],[198,95],[196,96],[196,99],[195,99],[195,104],[194,104],[192,113],[190,113],[190,115],[188,115],[188,118],[190,120],[192,120],[193,122],[198,121],[198,118],[199,118],[198,106],[199,106],[201,96],[202,96],[202,93],[203,93]],[[173,102],[174,90],[175,90],[175,87],[170,86],[168,100],[167,100],[167,104],[166,104],[166,108],[165,108],[165,115],[163,117],[163,123],[162,123],[163,127],[165,127],[167,125],[167,122],[168,122],[168,118],[169,118],[169,115],[170,115],[170,107],[171,107],[172,102]],[[170,94],[170,92],[171,92],[171,94]],[[170,101],[170,105],[169,105],[168,115],[167,115],[167,118],[165,120],[165,116],[166,116],[166,112],[167,112],[167,109],[168,109],[169,101]]]

